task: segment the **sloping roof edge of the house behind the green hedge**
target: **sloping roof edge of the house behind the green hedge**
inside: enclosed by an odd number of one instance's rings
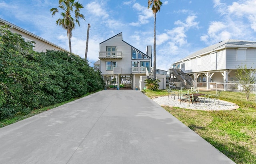
[[[54,44],[52,42],[49,42],[48,40],[45,40],[44,38],[41,38],[40,36],[37,36],[37,35],[29,32],[29,31],[27,31],[27,30],[24,30],[23,28],[20,28],[20,27],[16,26],[15,24],[12,24],[12,23],[10,23],[10,22],[8,22],[6,20],[3,20],[3,19],[0,18],[0,22],[2,22],[3,24],[7,24],[8,26],[10,26],[12,28],[16,28],[17,30],[19,30],[21,32],[24,32],[24,33],[26,33],[26,34],[28,34],[30,36],[33,36],[34,38],[42,40],[43,42],[46,42],[46,43],[48,43],[48,44],[50,44],[50,45],[52,45],[54,47],[58,47],[60,50],[68,51],[68,50],[66,50],[66,49],[64,49],[64,48],[62,48],[62,47],[60,47],[60,46],[58,46],[58,45],[56,45],[56,44]]]

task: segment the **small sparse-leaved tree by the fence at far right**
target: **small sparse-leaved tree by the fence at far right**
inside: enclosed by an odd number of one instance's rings
[[[246,100],[249,100],[250,92],[252,90],[253,84],[256,82],[256,70],[247,68],[246,65],[238,66],[236,71],[236,78],[242,83],[242,87],[244,88]]]

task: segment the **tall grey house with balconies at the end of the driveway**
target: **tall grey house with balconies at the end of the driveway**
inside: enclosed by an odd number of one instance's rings
[[[100,43],[100,72],[106,84],[142,90],[152,68],[151,46],[146,53],[122,39],[122,32]],[[97,63],[96,63],[97,65]],[[95,65],[94,65],[95,67]],[[160,78],[160,75],[157,77]],[[162,80],[164,83],[164,80]],[[160,84],[164,89],[164,84]],[[166,86],[166,83],[165,83]]]

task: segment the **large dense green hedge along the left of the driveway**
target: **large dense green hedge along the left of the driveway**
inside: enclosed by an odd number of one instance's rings
[[[35,52],[0,26],[0,120],[104,88],[99,71],[63,51]]]

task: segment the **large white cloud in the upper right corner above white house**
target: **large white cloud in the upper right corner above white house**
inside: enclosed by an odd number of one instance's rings
[[[210,22],[207,34],[201,36],[202,41],[215,44],[226,39],[255,39],[252,36],[252,30],[256,32],[255,0],[239,0],[229,6],[214,0],[214,7],[223,17]]]

